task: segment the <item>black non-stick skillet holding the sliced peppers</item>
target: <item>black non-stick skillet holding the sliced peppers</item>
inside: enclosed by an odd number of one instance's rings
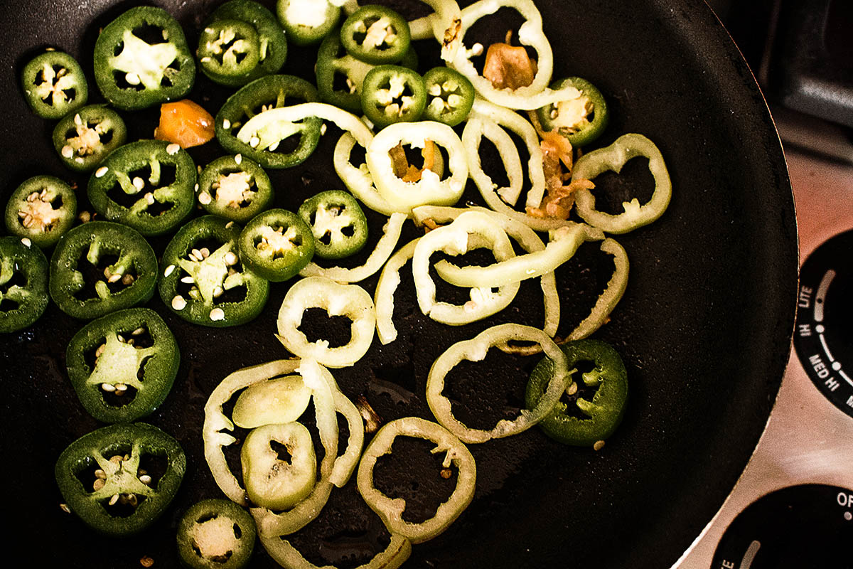
[[[200,22],[220,2],[155,3],[177,16],[194,44]],[[619,238],[631,258],[630,285],[612,321],[596,334],[624,356],[630,404],[622,427],[599,452],[562,447],[537,429],[473,446],[478,490],[472,505],[442,537],[416,546],[407,567],[670,566],[746,465],[786,363],[797,283],[791,189],[763,97],[711,10],[699,0],[537,4],[554,46],[554,76],[589,78],[611,105],[610,126],[598,144],[641,132],[657,142],[670,167],[674,192],[664,217]],[[0,195],[9,195],[36,173],[75,180],[84,195],[85,178],[61,167],[49,143],[53,125],[28,111],[17,74],[38,49],[66,49],[86,70],[90,100],[100,100],[91,75],[96,33],[131,5],[3,2]],[[420,3],[402,6],[409,15],[425,13]],[[502,38],[517,23],[503,12],[499,17],[479,26],[482,41]],[[436,57],[433,44],[421,47],[424,71]],[[314,53],[292,47],[286,72],[310,78]],[[215,112],[224,96],[199,77],[196,101]],[[156,112],[125,117],[131,137],[151,136]],[[295,208],[308,195],[341,187],[330,167],[335,139],[325,136],[305,165],[276,172],[279,204]],[[222,153],[213,142],[192,154],[206,164]],[[648,195],[650,178],[643,166],[629,165],[626,171],[630,184]],[[600,182],[612,203],[629,191],[629,184],[615,177]],[[375,240],[381,219],[370,218]],[[164,245],[154,242],[160,252]],[[588,310],[612,270],[607,265],[595,247],[587,246],[577,264],[561,270],[561,332]],[[368,279],[365,286],[372,291],[375,281]],[[531,284],[522,287],[508,311],[487,322],[438,327],[416,311],[410,277],[402,286],[396,316],[400,339],[383,347],[374,342],[355,369],[335,372],[348,394],[364,394],[386,419],[430,416],[423,395],[427,369],[452,342],[493,323],[536,325],[542,317],[537,285]],[[225,331],[189,326],[171,316],[159,298],[148,303],[175,331],[183,361],[171,395],[147,421],[178,438],[188,453],[189,471],[160,522],[128,540],[97,537],[63,513],[53,480],[61,450],[98,427],[65,374],[65,347],[81,322],[51,305],[33,328],[0,339],[2,456],[7,462],[3,511],[15,525],[13,538],[6,536],[6,560],[23,554],[34,566],[134,567],[149,556],[156,567],[177,566],[174,531],[181,512],[201,498],[220,496],[202,457],[202,406],[225,374],[286,356],[272,336],[286,288],[273,288],[269,310],[255,322]],[[338,330],[339,322],[313,318],[306,326]],[[458,413],[482,427],[496,421],[505,407],[519,404],[522,374],[533,363],[491,357],[490,371],[478,384],[473,378],[483,367],[461,369],[451,389],[462,403]],[[398,448],[377,470],[377,484],[409,497],[415,515],[423,516],[449,490],[434,484],[434,475],[416,478],[419,469],[432,467],[412,458],[426,447]],[[357,506],[352,484],[336,496],[316,526],[294,541],[318,564],[353,566],[385,537],[368,510]],[[357,508],[354,514],[347,509],[351,505]],[[253,566],[275,566],[258,549]],[[354,555],[349,563],[347,555]]]

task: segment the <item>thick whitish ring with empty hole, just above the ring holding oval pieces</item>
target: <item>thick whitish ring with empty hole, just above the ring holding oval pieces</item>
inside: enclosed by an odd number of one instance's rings
[[[322,308],[329,316],[346,316],[352,321],[351,339],[346,345],[328,347],[328,340],[309,342],[299,331],[303,313]],[[343,285],[322,276],[306,277],[290,287],[278,311],[276,338],[293,354],[316,360],[329,368],[345,368],[360,360],[373,341],[376,312],[373,299],[358,285]]]

